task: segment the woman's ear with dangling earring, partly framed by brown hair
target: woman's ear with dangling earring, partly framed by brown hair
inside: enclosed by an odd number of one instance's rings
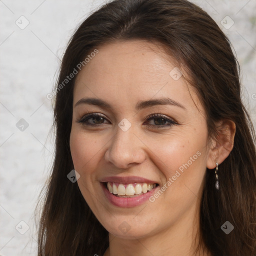
[[[222,119],[216,123],[217,135],[211,140],[208,151],[207,168],[213,169],[224,161],[234,144],[235,123],[229,119]]]

